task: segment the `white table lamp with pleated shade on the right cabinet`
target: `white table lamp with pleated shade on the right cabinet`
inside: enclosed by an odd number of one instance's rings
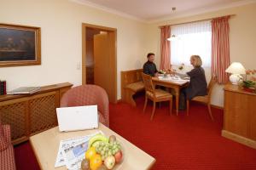
[[[231,73],[230,82],[237,84],[242,79],[240,74],[246,74],[246,69],[241,63],[234,62],[227,68],[226,72]]]

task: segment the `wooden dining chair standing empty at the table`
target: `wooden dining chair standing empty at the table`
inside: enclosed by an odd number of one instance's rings
[[[145,109],[147,107],[148,99],[151,99],[154,102],[154,107],[153,107],[153,111],[152,111],[150,120],[153,119],[156,102],[170,101],[170,114],[172,115],[172,94],[170,94],[162,89],[155,89],[151,76],[142,73],[142,77],[143,77],[143,82],[144,82],[144,86],[145,86],[145,103],[144,103],[144,107],[143,107],[143,112],[145,111]]]

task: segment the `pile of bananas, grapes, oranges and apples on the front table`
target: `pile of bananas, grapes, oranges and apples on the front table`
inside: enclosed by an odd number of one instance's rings
[[[99,133],[90,138],[81,169],[117,170],[120,169],[123,160],[124,148],[116,137],[111,135],[108,138]]]

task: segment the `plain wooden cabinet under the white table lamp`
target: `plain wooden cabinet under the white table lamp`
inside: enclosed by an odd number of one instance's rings
[[[256,149],[256,94],[236,85],[224,86],[222,136]]]

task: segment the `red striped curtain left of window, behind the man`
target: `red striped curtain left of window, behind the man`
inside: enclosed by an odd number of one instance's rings
[[[168,37],[171,37],[171,26],[163,26],[161,29],[160,35],[160,70],[171,69],[171,52],[170,52],[170,41],[167,40]]]

